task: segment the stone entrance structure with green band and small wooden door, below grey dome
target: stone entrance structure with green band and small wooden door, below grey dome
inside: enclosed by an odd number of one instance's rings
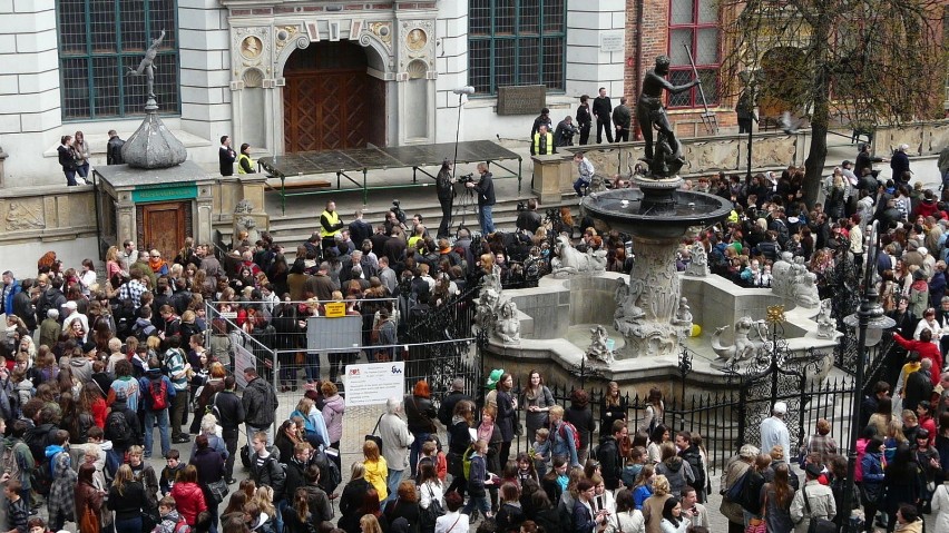
[[[158,247],[160,240],[164,243],[162,251],[166,255],[169,249],[177,251],[174,246],[184,245],[180,236],[192,236],[197,243],[212,240],[214,177],[194,162],[185,161],[163,169],[104,166],[96,167],[94,176],[99,201],[100,240],[104,244],[130,239],[139,245]],[[151,221],[140,219],[143,213],[159,206],[170,206],[169,211],[173,211],[176,203],[182,220],[158,224],[160,216]]]

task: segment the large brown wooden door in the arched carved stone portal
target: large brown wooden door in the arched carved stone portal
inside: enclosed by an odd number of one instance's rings
[[[315,42],[284,68],[284,149],[297,151],[385,146],[385,86],[366,73],[362,47]]]

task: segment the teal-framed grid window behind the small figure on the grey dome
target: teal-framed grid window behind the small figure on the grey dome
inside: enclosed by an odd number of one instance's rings
[[[143,115],[144,77],[126,76],[165,30],[155,58],[159,112],[179,113],[176,0],[58,0],[63,120]]]

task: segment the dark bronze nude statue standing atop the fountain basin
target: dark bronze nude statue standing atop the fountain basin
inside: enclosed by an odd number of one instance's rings
[[[667,79],[669,73],[669,58],[659,56],[656,58],[656,68],[646,72],[643,79],[643,90],[639,92],[639,101],[636,103],[636,120],[643,139],[646,141],[646,155],[642,158],[649,166],[649,177],[655,179],[676,176],[685,165],[682,157],[682,146],[675,138],[672,124],[663,107],[663,90],[673,95],[686,91],[699,83],[696,78],[688,83],[674,86]],[[653,141],[653,129],[657,131],[656,140]]]

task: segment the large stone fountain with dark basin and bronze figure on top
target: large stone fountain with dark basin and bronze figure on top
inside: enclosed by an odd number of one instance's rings
[[[488,334],[486,364],[517,375],[542,367],[547,378],[561,383],[577,375],[615,381],[640,393],[650,386],[668,392],[678,379],[714,389],[733,386],[737,365],[762,364],[762,348],[770,346],[767,327],[762,326],[766,316],[781,316],[775,320],[783,324],[786,343],[782,340],[781,349],[787,357],[803,357],[812,348],[830,354],[837,344],[839,334],[832,328],[824,326],[818,335],[820,303],[799,289],[806,288],[806,268],[801,273],[802,265],[790,259],[775,264],[780,290],[743,288],[710,275],[701,244],[692,247],[695,260],[689,269],[676,272],[675,253],[683,237],[727,218],[732,204],[681,190],[683,180],[676,174],[685,161],[661,97],[663,90],[677,92],[692,83],[672,86],[665,80],[667,67],[667,58],[657,59],[637,105],[640,119],[649,119],[643,125],[650,134],[644,158],[648,172],[630,178],[635,188],[597,190],[580,204],[598,230],[632,236],[632,273],[604,272],[595,253],[579,253],[560,236],[557,273],[541,278],[537,288],[501,290],[499,276],[488,276],[478,310],[479,330]],[[569,160],[562,165],[568,167]],[[775,304],[783,304],[786,314],[783,308],[773,313]],[[693,323],[708,335],[696,335],[699,328]],[[610,330],[619,338],[610,338]],[[684,347],[697,355],[687,377],[679,365]],[[809,379],[823,379],[832,363],[832,355],[824,356]]]

